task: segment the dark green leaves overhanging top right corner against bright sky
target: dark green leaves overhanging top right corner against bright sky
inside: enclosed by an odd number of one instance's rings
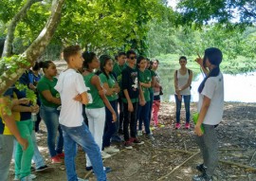
[[[255,7],[255,0],[182,0],[177,6],[181,14],[177,23],[206,25],[213,21],[229,28],[246,27],[255,22]]]

